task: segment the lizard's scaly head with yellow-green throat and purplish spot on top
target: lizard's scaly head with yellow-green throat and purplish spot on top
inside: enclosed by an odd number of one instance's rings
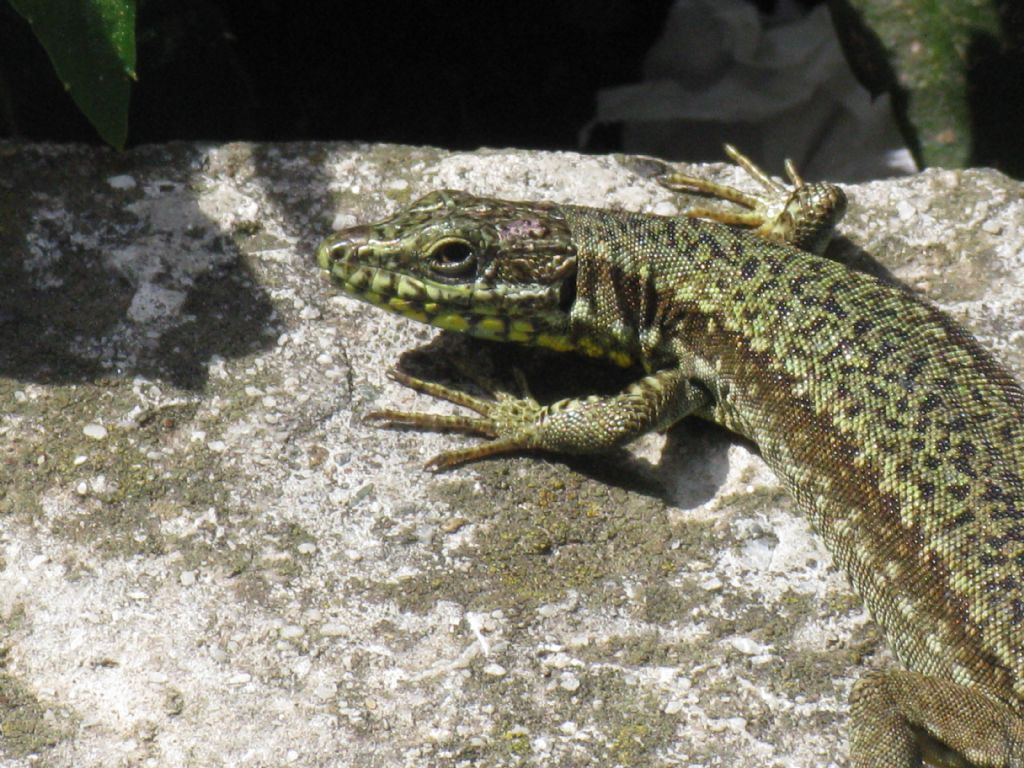
[[[573,349],[577,254],[559,209],[443,189],[324,241],[321,269],[355,298],[483,339]]]

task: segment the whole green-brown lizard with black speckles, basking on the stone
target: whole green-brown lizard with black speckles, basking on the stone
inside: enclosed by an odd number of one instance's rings
[[[319,266],[384,309],[645,371],[620,394],[549,406],[395,372],[477,416],[370,417],[490,438],[437,470],[602,451],[690,414],[749,437],[905,667],[855,686],[852,765],[1022,766],[1024,391],[927,301],[816,255],[838,187],[787,165],[787,190],[727,150],[766,202],[665,179],[750,209],[698,211],[719,222],[443,190],[325,241]]]

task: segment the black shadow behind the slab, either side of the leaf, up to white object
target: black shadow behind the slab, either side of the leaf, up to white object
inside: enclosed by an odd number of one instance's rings
[[[129,144],[358,139],[615,150],[614,128],[580,144],[594,94],[640,79],[670,4],[140,0]],[[0,78],[0,134],[99,142],[4,0]]]

